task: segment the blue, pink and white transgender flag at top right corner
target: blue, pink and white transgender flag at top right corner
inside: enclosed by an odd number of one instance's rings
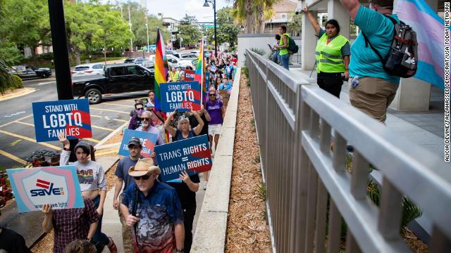
[[[399,0],[396,14],[416,32],[418,70],[414,77],[445,89],[445,22],[424,0]]]

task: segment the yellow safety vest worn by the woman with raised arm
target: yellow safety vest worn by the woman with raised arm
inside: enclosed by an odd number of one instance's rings
[[[349,42],[345,37],[338,34],[327,44],[326,32],[319,38],[316,44],[316,71],[327,73],[345,72],[345,60],[341,55],[341,48]]]

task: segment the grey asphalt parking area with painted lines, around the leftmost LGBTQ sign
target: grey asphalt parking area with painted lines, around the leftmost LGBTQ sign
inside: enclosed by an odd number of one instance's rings
[[[34,92],[18,98],[0,101],[0,167],[24,167],[26,158],[36,150],[57,151],[61,143],[36,142],[32,115],[32,102],[58,100],[56,82],[50,79],[24,81],[24,86]],[[85,139],[96,145],[122,126],[130,118],[135,99],[147,96],[147,91],[104,96],[104,101],[90,105],[92,138]]]

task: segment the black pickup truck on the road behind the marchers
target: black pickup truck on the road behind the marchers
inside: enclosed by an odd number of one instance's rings
[[[84,96],[90,104],[101,102],[103,94],[154,89],[154,70],[134,63],[111,64],[104,66],[104,75],[73,77],[73,96]]]

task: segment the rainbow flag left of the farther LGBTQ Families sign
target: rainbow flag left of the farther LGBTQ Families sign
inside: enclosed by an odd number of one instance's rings
[[[166,47],[164,46],[163,36],[160,28],[156,28],[156,48],[155,48],[155,108],[161,110],[160,84],[166,83],[166,74],[168,74],[168,62],[166,60]]]

